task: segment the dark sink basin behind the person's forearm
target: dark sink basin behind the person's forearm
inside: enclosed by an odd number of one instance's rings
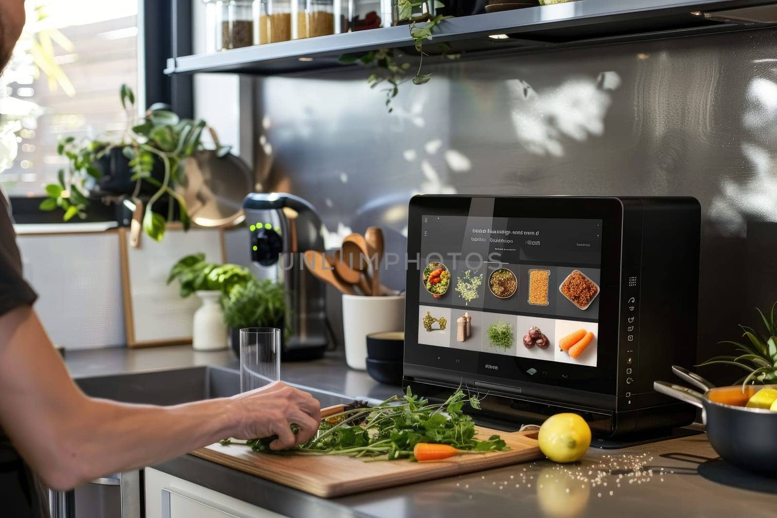
[[[188,367],[174,370],[81,377],[75,380],[85,394],[125,403],[178,405],[223,398],[240,391],[240,373],[225,367]],[[350,403],[353,398],[294,385],[310,392],[322,407]]]

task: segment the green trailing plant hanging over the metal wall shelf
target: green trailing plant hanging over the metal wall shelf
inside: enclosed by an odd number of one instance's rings
[[[423,52],[423,43],[427,40],[432,40],[434,35],[434,29],[439,24],[453,16],[435,15],[430,16],[427,13],[413,13],[413,9],[426,5],[424,0],[399,0],[398,2],[398,17],[400,22],[409,22],[410,37],[413,39],[413,47],[419,54],[418,70],[413,76],[413,85],[424,85],[431,79],[431,74],[421,73],[423,67],[423,57],[427,54]],[[440,0],[434,0],[434,9],[444,9],[444,3]],[[461,57],[461,54],[451,52],[451,47],[447,43],[439,43],[438,47],[442,50],[442,56],[444,59],[455,60]],[[375,89],[378,85],[388,85],[383,91],[385,92],[385,106],[389,109],[389,113],[394,111],[391,106],[392,99],[399,94],[399,85],[404,82],[407,71],[410,68],[408,62],[399,61],[399,51],[395,49],[378,49],[371,50],[366,54],[343,54],[338,60],[340,64],[363,64],[363,65],[375,65],[378,71],[373,72],[367,78],[367,83],[371,89]]]

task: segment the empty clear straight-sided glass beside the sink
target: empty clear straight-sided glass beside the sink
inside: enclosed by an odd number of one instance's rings
[[[240,329],[240,391],[280,380],[280,329]]]

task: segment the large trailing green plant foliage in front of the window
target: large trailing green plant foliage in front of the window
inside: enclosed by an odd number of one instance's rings
[[[133,197],[138,196],[143,183],[156,189],[145,207],[143,230],[149,237],[161,241],[167,221],[173,217],[174,203],[179,207],[184,230],[190,226],[186,201],[174,188],[186,181],[186,158],[203,148],[200,137],[206,123],[204,120],[182,119],[163,103],[153,104],[146,110],[145,116],[138,118],[132,89],[121,85],[119,95],[121,106],[127,113],[124,134],[113,140],[76,141],[72,136],[62,137],[57,142],[57,153],[66,158],[68,165],[57,173],[57,183],[46,186],[48,197],[40,203],[40,210],[60,208],[64,210],[64,221],[76,216],[85,219],[90,202],[88,189],[102,177],[96,162],[118,148],[129,160],[131,179],[135,183]],[[220,157],[228,151],[227,146],[215,150]],[[164,171],[161,181],[152,176],[158,164]],[[160,214],[154,210],[154,204],[165,195],[174,203],[168,204],[167,214]]]

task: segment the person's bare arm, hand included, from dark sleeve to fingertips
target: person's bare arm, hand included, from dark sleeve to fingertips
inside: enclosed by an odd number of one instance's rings
[[[0,315],[0,424],[49,487],[75,487],[106,473],[166,461],[232,436],[277,435],[282,449],[310,439],[319,402],[282,383],[232,398],[160,407],[85,396],[37,315]],[[300,426],[291,433],[291,423]]]

